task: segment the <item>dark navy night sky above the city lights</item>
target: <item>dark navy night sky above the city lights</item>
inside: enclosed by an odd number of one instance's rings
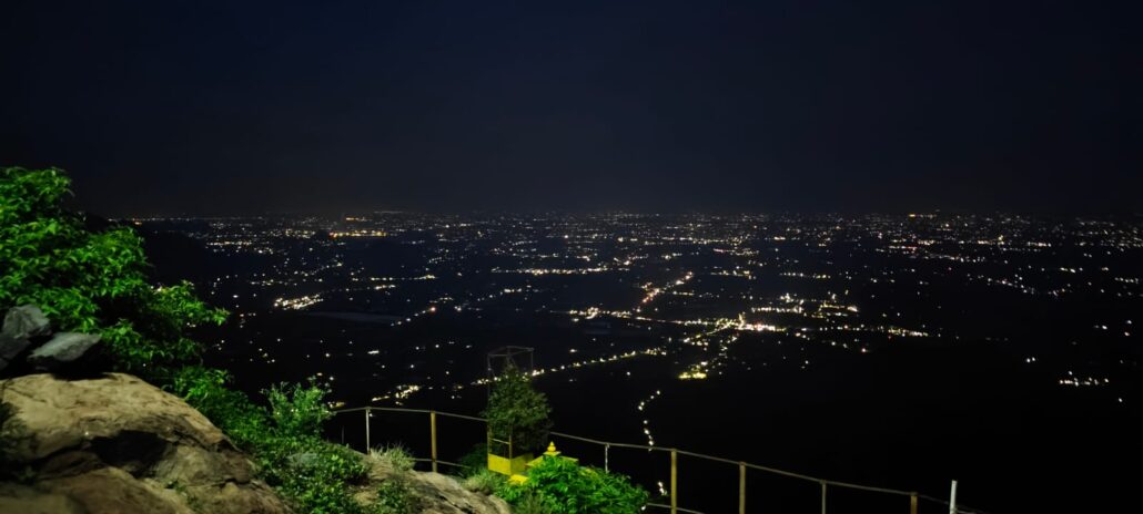
[[[118,215],[1143,209],[1127,3],[0,3],[0,164]]]

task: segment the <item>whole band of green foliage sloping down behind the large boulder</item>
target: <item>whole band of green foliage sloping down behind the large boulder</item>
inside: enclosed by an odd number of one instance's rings
[[[360,513],[350,484],[366,475],[360,453],[319,437],[331,415],[326,391],[280,385],[266,391],[271,409],[226,387],[229,375],[198,366],[187,330],[222,323],[187,282],[147,283],[142,240],[129,227],[89,230],[65,210],[71,180],[54,168],[0,168],[0,312],[40,307],[57,330],[98,334],[110,368],[163,384],[251,452],[259,474],[298,512]],[[11,411],[0,403],[0,450]],[[2,456],[0,456],[2,457]]]

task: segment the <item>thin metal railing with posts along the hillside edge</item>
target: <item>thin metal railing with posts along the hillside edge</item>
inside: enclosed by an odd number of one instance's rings
[[[443,417],[450,417],[450,418],[456,418],[456,419],[464,419],[464,420],[470,420],[470,421],[482,423],[482,424],[486,425],[485,431],[487,432],[487,420],[485,418],[479,418],[479,417],[475,417],[475,416],[458,415],[458,413],[453,413],[453,412],[441,412],[441,411],[429,410],[429,409],[406,409],[406,408],[399,408],[399,407],[358,407],[358,408],[351,408],[351,409],[334,410],[334,413],[336,413],[336,415],[344,415],[344,413],[350,413],[350,412],[365,412],[365,416],[363,416],[365,417],[365,444],[366,444],[366,449],[368,450],[369,448],[373,448],[373,445],[371,445],[371,439],[370,439],[369,418],[371,417],[371,415],[373,415],[374,411],[429,415],[429,434],[430,434],[430,448],[431,448],[430,449],[430,457],[429,458],[417,458],[416,460],[419,461],[419,463],[429,463],[429,464],[431,464],[431,467],[432,467],[433,472],[438,472],[438,469],[439,469],[438,466],[439,465],[446,465],[446,466],[451,466],[451,467],[463,467],[461,464],[447,461],[447,460],[440,459],[438,457],[438,451],[437,451],[438,450],[438,444],[437,444],[437,418],[438,417],[443,416]],[[822,512],[822,514],[826,514],[826,499],[828,499],[828,490],[829,490],[829,488],[849,489],[849,490],[856,490],[856,491],[874,492],[874,493],[892,495],[892,496],[898,496],[898,497],[902,497],[902,498],[908,498],[909,499],[909,513],[910,514],[917,514],[918,513],[919,504],[920,504],[921,500],[929,501],[929,503],[937,504],[937,505],[942,505],[942,506],[944,506],[944,507],[946,507],[949,509],[948,512],[950,514],[957,514],[957,513],[962,513],[962,514],[972,514],[972,513],[984,514],[982,511],[967,509],[966,507],[957,506],[954,504],[950,504],[949,500],[945,500],[945,499],[942,499],[942,498],[937,498],[937,497],[933,497],[933,496],[928,496],[928,495],[921,495],[921,493],[919,493],[917,491],[904,491],[904,490],[898,490],[898,489],[880,488],[880,487],[872,487],[872,485],[862,485],[862,484],[856,484],[856,483],[841,482],[841,481],[837,481],[837,480],[820,479],[820,477],[815,477],[815,476],[805,475],[805,474],[801,474],[801,473],[788,472],[788,471],[784,471],[784,469],[777,469],[777,468],[773,468],[773,467],[768,467],[768,466],[760,466],[760,465],[757,465],[757,464],[745,463],[745,461],[741,461],[741,460],[733,460],[733,459],[727,459],[727,458],[721,458],[721,457],[714,457],[714,456],[704,455],[704,453],[696,453],[696,452],[693,452],[693,451],[679,450],[677,448],[662,448],[662,447],[650,447],[650,445],[644,445],[644,444],[631,444],[631,443],[620,443],[620,442],[610,442],[610,441],[600,441],[600,440],[596,440],[596,439],[583,437],[583,436],[580,436],[580,435],[565,434],[565,433],[561,433],[561,432],[551,432],[551,435],[553,435],[555,437],[562,437],[562,439],[567,439],[567,440],[572,440],[572,441],[578,441],[578,442],[583,442],[583,443],[596,444],[596,445],[602,447],[602,450],[604,450],[604,469],[605,471],[610,471],[610,450],[612,450],[612,448],[636,449],[636,450],[646,450],[648,452],[665,452],[665,453],[670,453],[670,458],[671,458],[671,475],[670,476],[671,476],[671,479],[670,479],[670,492],[668,495],[670,504],[655,504],[655,503],[650,503],[650,504],[647,504],[647,506],[648,507],[654,507],[654,508],[669,509],[672,514],[680,513],[680,512],[681,513],[692,513],[692,514],[703,514],[700,511],[693,511],[693,509],[689,509],[689,508],[684,508],[684,507],[680,507],[678,505],[678,499],[679,499],[679,483],[678,483],[678,469],[679,469],[679,464],[678,463],[679,463],[679,456],[687,456],[687,457],[693,457],[693,458],[709,460],[709,461],[712,461],[712,463],[720,463],[720,464],[728,464],[728,465],[736,466],[738,468],[738,513],[740,514],[745,514],[745,512],[746,512],[746,471],[748,469],[754,469],[754,471],[760,471],[760,472],[764,472],[764,473],[769,473],[769,474],[773,474],[773,475],[785,476],[785,477],[790,477],[790,479],[797,479],[797,480],[806,481],[806,482],[813,482],[813,483],[816,483],[816,484],[821,485],[821,508],[822,508],[821,512]]]

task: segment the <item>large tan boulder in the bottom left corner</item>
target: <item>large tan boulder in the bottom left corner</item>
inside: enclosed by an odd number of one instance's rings
[[[0,488],[0,506],[32,498],[59,505],[43,512],[289,512],[206,417],[138,378],[29,375],[0,380],[0,392],[25,432],[11,458],[35,475],[31,490]]]

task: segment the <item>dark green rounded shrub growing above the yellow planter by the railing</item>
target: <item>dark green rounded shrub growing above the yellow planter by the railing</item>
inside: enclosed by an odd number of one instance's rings
[[[488,418],[493,437],[511,440],[513,453],[518,455],[538,450],[547,443],[551,411],[547,397],[533,388],[528,376],[510,363],[493,385],[488,408],[482,415]]]

